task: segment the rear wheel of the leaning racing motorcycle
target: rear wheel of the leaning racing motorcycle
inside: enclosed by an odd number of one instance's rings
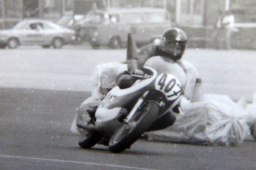
[[[103,136],[100,133],[95,133],[95,132],[88,132],[85,130],[79,141],[78,144],[81,148],[92,148],[94,145],[96,145]]]

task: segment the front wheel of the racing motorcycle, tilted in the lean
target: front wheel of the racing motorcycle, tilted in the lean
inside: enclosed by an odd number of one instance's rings
[[[119,153],[130,146],[151,126],[157,119],[159,106],[155,102],[148,102],[139,109],[128,124],[118,129],[111,137],[108,148],[111,152]]]

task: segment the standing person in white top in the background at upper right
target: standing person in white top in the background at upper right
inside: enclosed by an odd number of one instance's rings
[[[231,49],[231,34],[234,31],[235,16],[230,10],[225,12],[222,19],[223,31],[224,31],[224,49]]]

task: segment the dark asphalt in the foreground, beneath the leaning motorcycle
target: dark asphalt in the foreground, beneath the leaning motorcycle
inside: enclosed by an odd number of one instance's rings
[[[70,126],[87,92],[0,88],[0,169],[253,170],[256,142],[238,147],[139,140],[113,154],[79,147]]]

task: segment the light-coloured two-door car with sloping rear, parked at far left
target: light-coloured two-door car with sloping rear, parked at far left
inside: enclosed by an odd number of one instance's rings
[[[0,48],[11,49],[18,45],[41,45],[61,48],[76,40],[75,31],[41,19],[23,20],[10,30],[0,31]]]

